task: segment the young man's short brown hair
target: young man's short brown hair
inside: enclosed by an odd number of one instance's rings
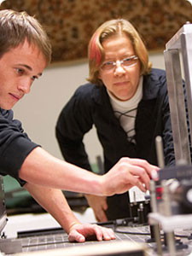
[[[0,57],[9,49],[23,44],[25,40],[29,44],[38,46],[43,53],[47,64],[51,60],[51,44],[47,33],[37,19],[28,15],[25,11],[17,12],[11,9],[0,10]]]

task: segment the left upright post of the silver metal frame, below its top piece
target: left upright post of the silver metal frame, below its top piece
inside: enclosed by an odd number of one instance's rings
[[[179,160],[190,163],[189,136],[178,50],[166,50],[164,57],[176,163]]]

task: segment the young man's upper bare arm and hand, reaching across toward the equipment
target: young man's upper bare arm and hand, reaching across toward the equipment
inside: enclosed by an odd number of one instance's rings
[[[158,167],[146,160],[122,158],[100,176],[59,160],[43,148],[34,148],[24,160],[19,176],[28,183],[94,195],[121,194],[137,186],[149,188],[151,172]]]

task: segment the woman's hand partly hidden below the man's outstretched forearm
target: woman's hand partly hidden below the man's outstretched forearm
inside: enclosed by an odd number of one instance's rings
[[[85,195],[89,206],[93,209],[98,222],[108,221],[105,211],[108,209],[106,196]]]

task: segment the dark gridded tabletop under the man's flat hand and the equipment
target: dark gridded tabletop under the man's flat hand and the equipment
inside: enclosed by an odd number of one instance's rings
[[[102,225],[113,228],[116,236],[115,241],[131,241],[134,244],[141,242],[146,243],[148,245],[148,253],[146,256],[157,255],[155,251],[155,243],[147,242],[151,238],[150,229],[148,225],[137,225],[129,223],[129,226],[116,226],[113,222],[108,222]],[[189,255],[189,253],[192,251],[192,240],[190,240],[191,232],[192,230],[176,230],[176,245],[179,245],[179,247],[177,246],[176,255]],[[162,235],[163,255],[169,255],[165,243],[163,242],[163,237],[164,236]],[[21,243],[22,252],[114,242],[96,240],[89,240],[82,243],[69,242],[67,234],[61,228],[19,232],[18,238],[13,239],[12,242],[13,241]]]

